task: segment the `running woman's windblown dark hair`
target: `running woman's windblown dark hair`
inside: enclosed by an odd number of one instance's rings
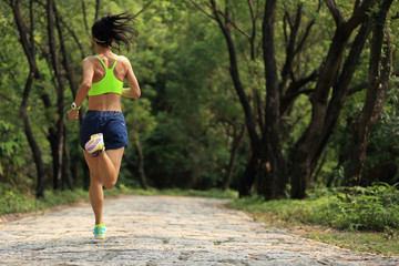
[[[134,17],[129,13],[102,17],[94,22],[92,35],[95,42],[101,47],[111,47],[113,44],[112,41],[114,41],[117,47],[112,48],[120,50],[121,42],[123,42],[129,50],[132,43],[132,39],[129,34],[134,37],[139,35],[139,32],[132,25],[134,21]]]

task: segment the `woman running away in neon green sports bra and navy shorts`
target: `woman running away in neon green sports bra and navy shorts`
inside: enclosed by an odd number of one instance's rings
[[[126,122],[122,114],[121,98],[140,98],[141,91],[130,61],[111,51],[123,43],[129,50],[130,34],[137,35],[133,18],[126,13],[106,16],[92,27],[95,55],[83,60],[83,81],[68,112],[70,119],[79,117],[79,110],[89,95],[89,111],[80,129],[80,145],[90,168],[90,202],[95,216],[94,238],[105,238],[102,218],[103,186],[112,188],[127,146]],[[123,88],[126,80],[129,88]]]

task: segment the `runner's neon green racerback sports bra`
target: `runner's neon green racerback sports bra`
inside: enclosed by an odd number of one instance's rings
[[[117,58],[111,69],[108,69],[102,59],[99,55],[98,58],[102,65],[105,69],[105,75],[101,81],[92,83],[92,86],[89,91],[89,96],[100,95],[104,93],[117,93],[122,95],[123,82],[115,78],[113,70],[116,65]]]

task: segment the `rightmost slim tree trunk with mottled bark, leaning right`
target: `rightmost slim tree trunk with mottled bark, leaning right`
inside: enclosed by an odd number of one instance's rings
[[[345,182],[348,185],[360,185],[361,170],[366,161],[369,133],[379,119],[387,96],[392,61],[392,44],[388,32],[386,33],[386,43],[382,43],[387,13],[391,3],[392,0],[382,1],[379,4],[378,13],[372,21],[369,84],[364,108],[360,111],[358,119],[352,123],[350,162],[345,171]],[[381,58],[382,45],[385,54]]]

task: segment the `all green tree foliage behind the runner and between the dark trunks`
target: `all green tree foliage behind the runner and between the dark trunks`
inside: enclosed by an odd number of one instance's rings
[[[195,2],[211,13],[204,1],[195,0]],[[221,10],[224,10],[226,2],[222,0],[216,2]],[[22,0],[20,3],[27,27],[30,28],[29,1]],[[60,17],[65,22],[64,44],[69,51],[69,61],[76,84],[81,82],[82,57],[94,52],[90,40],[90,25],[95,16],[95,7],[85,3],[85,13],[83,13],[82,1],[57,1]],[[147,6],[149,3],[151,4]],[[256,113],[256,120],[262,120],[264,116],[266,96],[260,43],[264,3],[264,1],[258,3],[256,13],[259,19],[256,21],[255,59],[250,59],[247,38],[235,27],[231,28],[237,50],[241,81],[245,86],[247,98],[252,101],[250,108]],[[318,1],[277,1],[275,52],[278,73],[286,60],[285,48],[291,31],[289,24],[295,22],[294,14],[298,4],[301,4],[303,14],[298,41],[308,34],[307,41],[300,45],[296,43],[298,50],[287,85],[299,82],[318,69],[328,52],[336,25],[327,6],[320,3],[319,7]],[[352,12],[352,1],[342,0],[337,4],[342,17],[348,19]],[[397,2],[393,3],[390,16],[398,12],[398,6]],[[232,144],[237,136],[237,131],[245,126],[244,112],[229,76],[229,58],[223,33],[214,20],[195,9],[192,1],[186,0],[101,1],[99,16],[122,11],[134,14],[143,7],[146,9],[137,16],[136,23],[140,35],[131,51],[121,51],[132,62],[141,84],[142,98],[134,101],[123,100],[131,144],[125,151],[119,182],[132,187],[139,186],[139,173],[135,170],[139,155],[134,143],[140,142],[150,185],[201,190],[219,187],[226,176]],[[38,2],[33,2],[33,8],[37,62],[42,80],[35,80],[33,83],[28,113],[33,135],[42,152],[45,173],[49,175],[43,178],[47,180],[45,185],[51,187],[52,154],[48,136],[49,129],[53,126],[57,119],[57,91],[54,73],[49,65],[51,60],[45,59],[49,43],[47,21],[43,19],[45,10]],[[250,33],[252,23],[247,2],[229,1],[229,8],[235,25]],[[307,33],[306,29],[311,20],[315,20],[315,24]],[[390,20],[388,25],[393,43],[398,43],[399,20]],[[0,44],[0,182],[25,192],[34,187],[37,176],[19,114],[29,64],[16,34],[16,27],[10,7],[1,4],[0,32],[4,41]],[[395,72],[399,63],[399,53],[397,45],[393,49]],[[345,51],[345,54],[347,52]],[[60,61],[63,61],[61,57]],[[367,80],[368,62],[369,48],[367,45],[350,88]],[[66,76],[64,69],[62,69],[62,74]],[[64,80],[64,83],[65,103],[69,105],[72,93],[69,82]],[[314,82],[310,82],[301,90],[311,90],[314,86]],[[43,91],[49,94],[52,109],[44,110]],[[259,103],[255,103],[256,95],[260,99]],[[364,91],[348,95],[338,124],[324,152],[323,162],[319,163],[320,171],[318,176],[315,176],[317,181],[315,186],[339,185],[342,182],[342,168],[346,162],[342,154],[346,154],[347,143],[350,141],[350,123],[358,115],[364,100]],[[381,119],[370,134],[364,171],[365,185],[370,185],[375,181],[389,184],[399,181],[398,105],[398,79],[392,76]],[[84,109],[86,109],[86,102],[83,104],[83,111]],[[293,144],[309,124],[310,115],[311,105],[308,95],[305,94],[298,96],[284,114],[280,123],[280,140],[283,155],[286,158]],[[71,171],[75,180],[74,185],[81,186],[81,181],[89,177],[82,176],[84,172],[81,171],[83,158],[78,144],[80,125],[76,121],[70,120],[66,120],[66,142],[71,162],[73,162]],[[237,183],[249,154],[249,142],[246,136],[237,153],[233,184]],[[125,162],[130,162],[129,167]],[[311,212],[311,209],[306,211],[307,206],[303,206],[299,202],[295,204],[298,209],[301,209],[300,212]],[[299,215],[295,212],[287,211],[286,219]]]

